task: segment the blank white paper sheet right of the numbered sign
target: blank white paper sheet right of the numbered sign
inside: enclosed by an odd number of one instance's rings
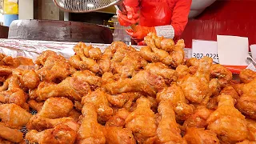
[[[248,38],[218,35],[218,58],[222,65],[248,66]]]

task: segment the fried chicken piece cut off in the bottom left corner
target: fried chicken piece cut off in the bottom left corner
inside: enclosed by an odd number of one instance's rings
[[[0,131],[0,143],[4,143],[1,141],[1,138],[4,138],[10,142],[22,142],[23,134],[17,129],[11,129],[5,126],[4,123],[0,122]]]

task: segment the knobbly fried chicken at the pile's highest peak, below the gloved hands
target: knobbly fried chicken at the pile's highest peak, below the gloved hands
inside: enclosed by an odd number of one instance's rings
[[[142,47],[140,54],[149,62],[162,62],[167,66],[177,67],[184,62],[185,47],[183,40],[178,40],[174,45],[172,39],[159,38],[154,33],[148,34],[144,38],[147,46]]]

